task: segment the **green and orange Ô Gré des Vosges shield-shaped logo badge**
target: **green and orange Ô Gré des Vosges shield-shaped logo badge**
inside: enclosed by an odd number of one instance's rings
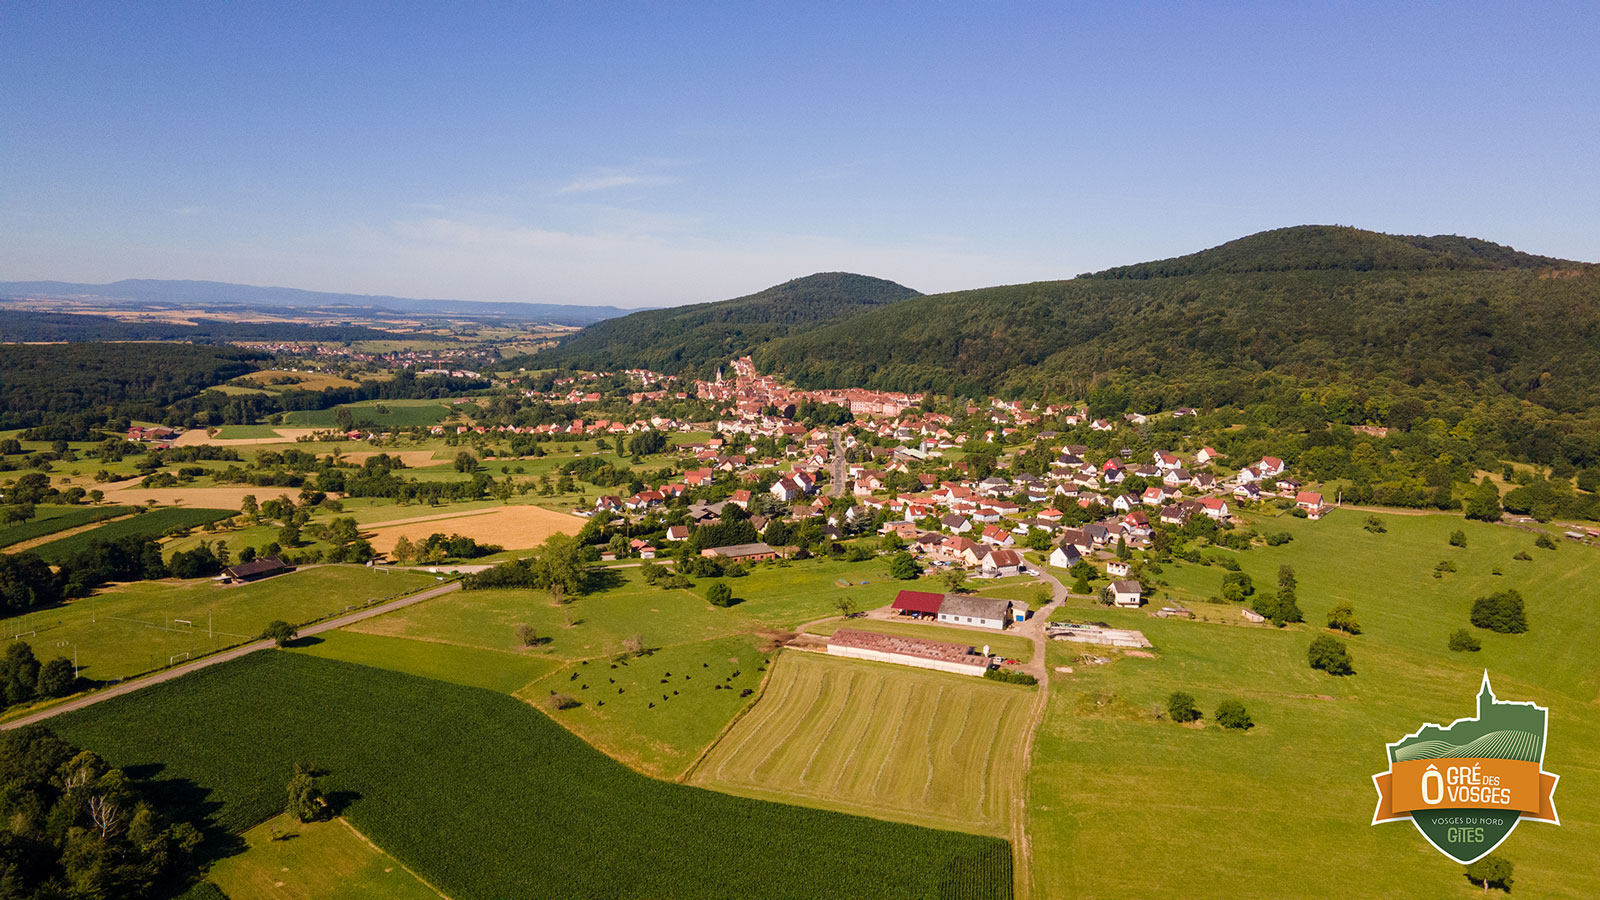
[[[1373,825],[1410,820],[1458,863],[1488,855],[1522,820],[1560,825],[1560,777],[1544,770],[1547,724],[1544,706],[1496,700],[1485,671],[1477,716],[1389,745],[1389,770],[1373,775]]]

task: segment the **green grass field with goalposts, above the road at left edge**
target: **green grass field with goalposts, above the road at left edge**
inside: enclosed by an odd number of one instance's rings
[[[139,581],[0,620],[40,658],[74,652],[83,677],[115,681],[253,641],[267,623],[304,623],[437,581],[410,572],[320,565],[253,585]]]

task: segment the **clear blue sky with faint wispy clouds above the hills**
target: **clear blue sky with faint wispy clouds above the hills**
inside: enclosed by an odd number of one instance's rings
[[[1600,261],[1600,6],[0,3],[0,279],[666,306],[1338,223]]]

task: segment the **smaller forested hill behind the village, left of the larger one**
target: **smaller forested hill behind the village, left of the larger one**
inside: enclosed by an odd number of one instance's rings
[[[574,365],[694,372],[867,307],[886,306],[917,291],[869,275],[822,272],[715,303],[648,309],[589,325],[538,359],[514,365]]]

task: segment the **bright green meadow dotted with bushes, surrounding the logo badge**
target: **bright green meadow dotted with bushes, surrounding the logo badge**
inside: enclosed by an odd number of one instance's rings
[[[1034,895],[1154,897],[1173,884],[1197,898],[1277,897],[1285,884],[1325,897],[1482,895],[1410,825],[1370,822],[1384,743],[1422,722],[1470,716],[1485,669],[1502,700],[1549,706],[1544,767],[1562,775],[1562,825],[1523,823],[1496,850],[1515,862],[1515,895],[1600,895],[1600,551],[1566,541],[1538,549],[1528,532],[1450,516],[1382,519],[1386,533],[1366,532],[1365,514],[1347,509],[1322,522],[1274,519],[1262,528],[1294,540],[1238,554],[1261,589],[1275,588],[1278,565],[1294,567],[1307,625],[1075,610],[1144,631],[1157,658],[1051,676],[1030,772]],[[1448,543],[1458,528],[1466,548]],[[1522,549],[1533,560],[1514,560]],[[1434,578],[1442,559],[1458,572]],[[1197,612],[1242,621],[1237,604],[1197,599],[1219,591],[1221,569],[1168,565],[1155,578]],[[1472,601],[1506,588],[1526,599],[1530,631],[1472,629],[1482,652],[1446,650],[1451,631],[1470,629]],[[1306,663],[1336,602],[1350,602],[1362,625],[1362,634],[1342,636],[1349,677]],[[1050,663],[1074,665],[1083,652],[1053,644]],[[1208,717],[1221,700],[1242,700],[1256,727],[1155,721],[1173,690],[1192,693]]]

